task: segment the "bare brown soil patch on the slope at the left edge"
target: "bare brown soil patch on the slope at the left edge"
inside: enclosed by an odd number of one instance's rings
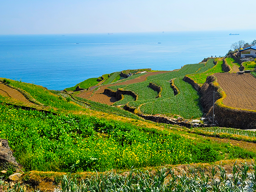
[[[7,85],[3,84],[2,82],[0,82],[0,94],[6,97],[16,99],[18,101],[26,102],[28,104],[33,104],[32,102],[27,100],[24,97],[24,95],[22,95],[18,90],[14,88],[10,88]]]

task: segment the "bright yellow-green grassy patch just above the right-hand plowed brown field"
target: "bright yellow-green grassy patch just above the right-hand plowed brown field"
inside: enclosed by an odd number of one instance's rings
[[[222,63],[223,61],[217,61],[217,64],[210,68],[209,70],[205,71],[205,72],[202,72],[202,73],[197,73],[197,74],[189,74],[187,75],[188,77],[190,77],[191,79],[193,79],[197,84],[199,85],[202,85],[204,84],[204,82],[206,81],[206,78],[209,76],[209,75],[212,75],[214,73],[221,73],[223,72],[222,70]]]

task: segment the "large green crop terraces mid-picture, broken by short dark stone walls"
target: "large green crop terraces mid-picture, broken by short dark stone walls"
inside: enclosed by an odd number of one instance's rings
[[[182,81],[182,78],[186,74],[196,72],[202,68],[204,64],[191,64],[185,65],[178,71],[172,71],[165,74],[158,74],[149,76],[145,82],[122,85],[122,86],[110,86],[111,89],[117,90],[117,88],[124,88],[124,90],[132,90],[138,94],[138,100],[130,102],[130,106],[140,106],[142,112],[147,114],[178,114],[185,118],[198,118],[202,116],[202,110],[199,105],[199,96],[192,86]],[[170,87],[169,80],[177,78],[174,83],[181,91],[177,96],[174,96],[173,90]],[[162,97],[157,98],[157,92],[148,87],[149,82],[155,82],[162,86]],[[191,102],[192,98],[192,102]],[[122,103],[124,104],[124,103]],[[178,105],[178,106],[177,106]],[[186,110],[186,109],[190,110]],[[193,114],[192,114],[193,113]]]

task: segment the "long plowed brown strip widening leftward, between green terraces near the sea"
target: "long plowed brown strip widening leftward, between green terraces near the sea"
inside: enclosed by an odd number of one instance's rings
[[[147,74],[145,74],[143,76],[140,76],[138,78],[131,79],[131,80],[128,80],[128,81],[125,81],[125,82],[116,83],[114,85],[128,85],[128,84],[143,82],[143,81],[146,80],[146,78],[148,76],[157,75],[157,74],[161,74],[161,73],[167,73],[167,72],[170,72],[170,71],[148,72]],[[111,105],[114,102],[116,102],[117,100],[113,97],[110,97],[110,96],[107,96],[106,94],[103,94],[103,92],[104,92],[105,88],[107,88],[109,86],[112,86],[112,85],[113,84],[100,86],[100,88],[98,90],[96,90],[94,92],[94,94],[90,90],[90,91],[84,91],[84,92],[78,94],[77,96],[81,97],[81,98],[88,98],[89,100],[92,100],[92,101],[96,101],[96,102]]]

